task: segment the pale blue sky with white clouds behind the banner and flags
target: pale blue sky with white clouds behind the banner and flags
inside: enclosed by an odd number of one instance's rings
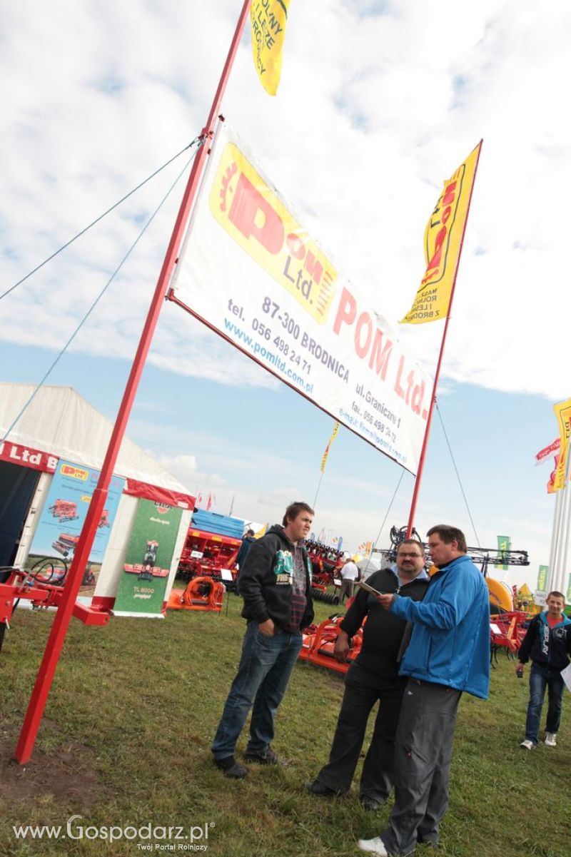
[[[0,21],[5,291],[200,133],[239,0],[21,0]],[[568,378],[571,9],[563,0],[465,4],[292,0],[282,81],[271,99],[249,37],[223,112],[301,222],[389,320],[424,273],[424,225],[442,182],[484,147],[454,299],[439,418],[418,506],[493,547],[549,561],[549,467]],[[4,381],[44,375],[179,171],[183,155],[0,303]],[[183,192],[168,201],[58,363],[113,417]],[[401,338],[433,371],[440,323]],[[161,314],[129,436],[217,511],[277,520],[314,500],[333,421],[171,304]],[[375,539],[400,469],[342,428],[316,529]],[[382,532],[405,524],[406,473]]]

